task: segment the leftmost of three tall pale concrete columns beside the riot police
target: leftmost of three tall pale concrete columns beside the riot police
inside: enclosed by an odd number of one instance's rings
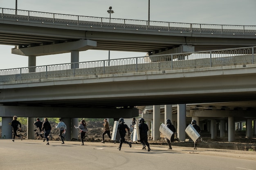
[[[153,140],[160,139],[160,105],[153,106]]]

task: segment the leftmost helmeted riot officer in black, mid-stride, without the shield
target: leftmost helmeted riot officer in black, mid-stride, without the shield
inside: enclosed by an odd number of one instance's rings
[[[124,139],[125,135],[126,135],[126,129],[128,130],[128,135],[130,135],[130,128],[127,126],[127,124],[124,124],[124,119],[123,118],[120,118],[119,119],[119,124],[118,124],[118,127],[117,129],[119,130],[119,133],[120,133],[120,145],[118,147],[119,150],[121,150],[121,147],[122,147],[122,144],[125,143],[125,144],[128,144],[130,146],[130,148],[132,147],[132,142],[128,142]]]

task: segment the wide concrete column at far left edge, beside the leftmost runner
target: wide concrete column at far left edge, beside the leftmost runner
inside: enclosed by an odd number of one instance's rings
[[[2,138],[12,139],[12,117],[2,117]]]

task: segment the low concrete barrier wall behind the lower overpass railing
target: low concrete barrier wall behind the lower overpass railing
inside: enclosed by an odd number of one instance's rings
[[[185,59],[185,58],[184,58]],[[239,55],[232,57],[218,57],[195,60],[176,60],[164,62],[148,62],[144,64],[126,64],[119,66],[105,66],[94,68],[75,68],[60,71],[34,72],[15,75],[1,75],[0,82],[20,80],[40,80],[60,77],[77,77],[103,74],[134,73],[146,71],[166,71],[177,69],[204,68],[216,66],[232,66],[252,64],[252,55]]]

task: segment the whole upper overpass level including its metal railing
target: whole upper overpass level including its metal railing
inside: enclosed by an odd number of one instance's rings
[[[4,8],[0,8],[0,27],[0,44],[14,45],[19,50],[23,48],[17,54],[28,56],[87,49],[146,52],[151,55],[182,44],[193,46],[194,51],[256,45],[256,26],[148,22]],[[42,46],[56,48],[56,44],[79,40],[95,43],[89,43],[88,48],[34,52]],[[76,46],[67,44],[72,45]]]

